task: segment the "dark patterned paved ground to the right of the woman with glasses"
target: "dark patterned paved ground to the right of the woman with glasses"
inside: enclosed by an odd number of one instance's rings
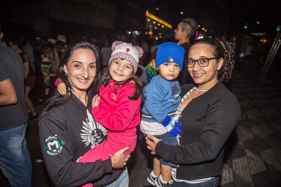
[[[279,186],[281,84],[279,79],[267,84],[242,74],[236,74],[230,85],[242,115],[230,137],[220,186]]]

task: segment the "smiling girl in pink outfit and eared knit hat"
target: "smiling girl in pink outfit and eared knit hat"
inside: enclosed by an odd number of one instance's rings
[[[103,70],[99,96],[92,101],[92,113],[107,128],[107,140],[93,147],[78,162],[107,160],[121,148],[130,145],[131,149],[125,152],[130,154],[136,147],[144,84],[135,73],[143,51],[139,46],[121,41],[113,42],[112,50],[109,66]]]

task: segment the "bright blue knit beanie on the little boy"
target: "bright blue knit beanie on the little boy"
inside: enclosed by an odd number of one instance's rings
[[[157,47],[155,67],[166,62],[175,62],[182,70],[184,48],[174,42],[166,42]]]

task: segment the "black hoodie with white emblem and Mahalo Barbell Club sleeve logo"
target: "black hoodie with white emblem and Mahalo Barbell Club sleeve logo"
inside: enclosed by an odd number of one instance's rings
[[[39,125],[39,138],[49,176],[55,186],[79,186],[92,181],[105,186],[119,177],[123,168],[112,169],[111,159],[77,162],[92,147],[107,138],[107,130],[93,119],[88,93],[87,107],[74,95],[67,103],[51,109]]]

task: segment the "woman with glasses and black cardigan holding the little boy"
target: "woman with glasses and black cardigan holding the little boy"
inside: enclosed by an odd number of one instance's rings
[[[148,149],[173,168],[175,186],[218,186],[224,145],[241,114],[235,95],[222,82],[232,78],[236,44],[220,38],[201,38],[192,43],[186,66],[197,86],[181,86],[181,103],[175,119],[182,133],[171,146],[152,135]]]

